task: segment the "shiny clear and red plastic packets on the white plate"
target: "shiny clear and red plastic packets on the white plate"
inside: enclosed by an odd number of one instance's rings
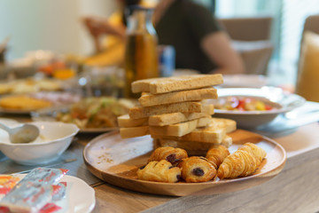
[[[66,194],[65,184],[59,184],[66,172],[49,168],[31,170],[4,196],[0,206],[12,212],[53,212],[61,209],[54,202],[63,199]]]

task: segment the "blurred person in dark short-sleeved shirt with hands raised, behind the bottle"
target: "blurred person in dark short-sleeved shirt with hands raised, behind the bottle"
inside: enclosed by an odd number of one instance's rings
[[[149,6],[147,0],[118,1],[121,5],[120,12],[109,20],[84,19],[90,35],[97,43],[97,51],[103,50],[98,43],[99,37],[103,35],[112,36],[117,43],[125,43],[125,9],[129,5]],[[243,61],[231,47],[229,36],[206,7],[191,0],[159,0],[154,7],[153,24],[159,44],[174,46],[176,68],[198,70],[202,74],[245,72]],[[106,51],[112,49],[112,39],[107,39]],[[124,57],[124,50],[122,51],[119,61]]]

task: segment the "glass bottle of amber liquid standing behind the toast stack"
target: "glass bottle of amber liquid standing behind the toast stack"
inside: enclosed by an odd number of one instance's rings
[[[159,77],[158,38],[152,25],[152,9],[136,6],[128,17],[125,49],[125,98],[136,99],[131,91],[136,80]]]

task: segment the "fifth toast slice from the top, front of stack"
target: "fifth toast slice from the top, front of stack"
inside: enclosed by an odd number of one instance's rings
[[[162,136],[175,136],[181,137],[190,133],[198,127],[205,127],[212,122],[211,116],[206,116],[203,118],[198,118],[189,122],[180,122],[175,124],[170,124],[167,126],[150,126],[151,135],[162,135]]]

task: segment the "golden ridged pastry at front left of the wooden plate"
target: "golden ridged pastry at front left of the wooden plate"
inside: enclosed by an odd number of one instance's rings
[[[137,170],[137,178],[165,183],[178,182],[181,177],[181,169],[173,167],[172,163],[165,160],[149,162],[143,169]]]

